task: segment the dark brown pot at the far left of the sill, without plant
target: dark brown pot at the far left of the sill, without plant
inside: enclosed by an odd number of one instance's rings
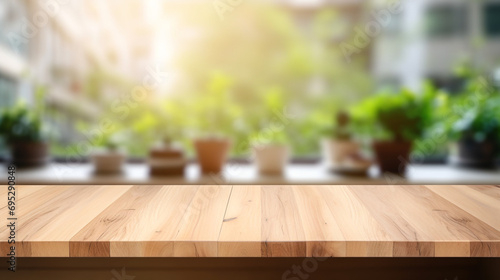
[[[16,142],[10,145],[11,161],[17,167],[34,167],[49,161],[46,142]]]

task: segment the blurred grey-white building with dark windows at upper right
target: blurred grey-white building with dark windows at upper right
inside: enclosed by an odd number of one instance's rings
[[[494,74],[500,62],[500,1],[405,1],[395,32],[375,40],[372,73],[379,81],[419,88],[423,79],[451,91],[453,69],[468,61]],[[381,9],[384,7],[382,6]]]

